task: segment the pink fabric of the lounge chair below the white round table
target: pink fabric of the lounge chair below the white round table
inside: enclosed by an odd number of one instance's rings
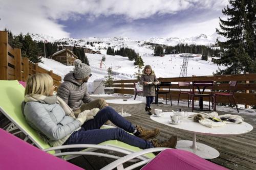
[[[162,151],[157,155],[152,161],[148,162],[143,168],[143,170],[224,170],[226,168],[217,165],[215,163],[209,162],[199,156],[183,151],[183,150],[171,150],[167,149]]]

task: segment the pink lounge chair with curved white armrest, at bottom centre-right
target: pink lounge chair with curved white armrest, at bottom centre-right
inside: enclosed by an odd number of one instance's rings
[[[123,163],[148,152],[155,152],[156,148],[146,149],[143,151],[135,152],[130,155],[126,155],[108,165],[101,170],[111,170],[117,168],[117,170],[123,170]],[[146,164],[147,163],[147,164]],[[159,153],[154,159],[144,160],[132,164],[125,169],[133,169],[146,164],[142,170],[225,170],[225,167],[209,162],[199,156],[183,150],[165,149]]]

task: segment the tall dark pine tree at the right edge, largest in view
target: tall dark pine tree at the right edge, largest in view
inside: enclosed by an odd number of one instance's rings
[[[256,1],[229,0],[229,6],[222,10],[227,20],[220,18],[219,35],[227,41],[217,41],[224,55],[213,61],[225,65],[217,74],[239,74],[256,71]]]

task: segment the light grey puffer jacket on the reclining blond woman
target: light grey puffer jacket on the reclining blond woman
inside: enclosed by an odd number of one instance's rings
[[[52,147],[63,144],[81,126],[79,120],[66,116],[57,103],[27,102],[24,115],[33,129],[49,139]]]

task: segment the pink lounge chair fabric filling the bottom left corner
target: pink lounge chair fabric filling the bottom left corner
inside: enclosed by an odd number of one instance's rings
[[[59,159],[0,128],[0,169],[82,169]]]

